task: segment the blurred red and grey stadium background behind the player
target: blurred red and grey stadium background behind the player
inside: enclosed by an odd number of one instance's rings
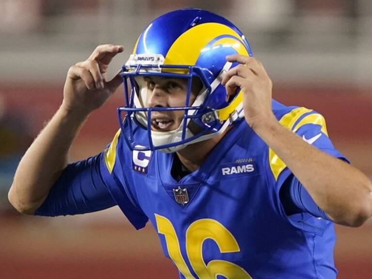
[[[99,44],[123,44],[113,76],[155,17],[184,7],[227,17],[274,83],[274,98],[322,113],[330,138],[372,178],[370,0],[0,0],[0,278],[177,278],[155,230],[118,208],[76,217],[21,216],[7,201],[17,163],[62,101],[68,68]],[[100,152],[118,123],[118,90],[72,148]],[[371,278],[372,221],[337,226],[340,279]]]

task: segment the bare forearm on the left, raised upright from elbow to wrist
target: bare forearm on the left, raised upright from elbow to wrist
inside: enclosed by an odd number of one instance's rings
[[[63,105],[22,157],[9,201],[20,212],[32,214],[67,165],[70,146],[87,115],[64,109]]]

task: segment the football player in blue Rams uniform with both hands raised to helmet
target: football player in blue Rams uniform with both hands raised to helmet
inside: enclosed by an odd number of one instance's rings
[[[98,46],[69,69],[61,107],[16,171],[16,209],[118,205],[137,229],[151,221],[181,278],[336,278],[333,223],[366,221],[372,186],[334,148],[323,116],[272,100],[242,32],[207,11],[156,18],[109,81],[122,51]],[[122,81],[114,139],[67,164],[80,127]]]

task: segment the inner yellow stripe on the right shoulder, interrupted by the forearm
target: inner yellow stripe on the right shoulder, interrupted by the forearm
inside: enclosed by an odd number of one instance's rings
[[[292,130],[294,123],[305,113],[310,112],[311,109],[306,108],[297,108],[292,109],[290,112],[285,114],[280,120],[279,123],[284,127]],[[305,117],[306,118],[306,117]],[[301,123],[301,121],[300,121]],[[298,125],[296,125],[297,127]],[[282,172],[287,166],[286,164],[279,158],[278,155],[270,148],[269,149],[269,164],[270,169],[275,177],[275,180],[278,180],[278,176],[280,172]]]

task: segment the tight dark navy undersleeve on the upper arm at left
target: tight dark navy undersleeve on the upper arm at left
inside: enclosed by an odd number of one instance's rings
[[[69,164],[34,215],[76,215],[116,205],[100,173],[102,159],[103,153]]]

